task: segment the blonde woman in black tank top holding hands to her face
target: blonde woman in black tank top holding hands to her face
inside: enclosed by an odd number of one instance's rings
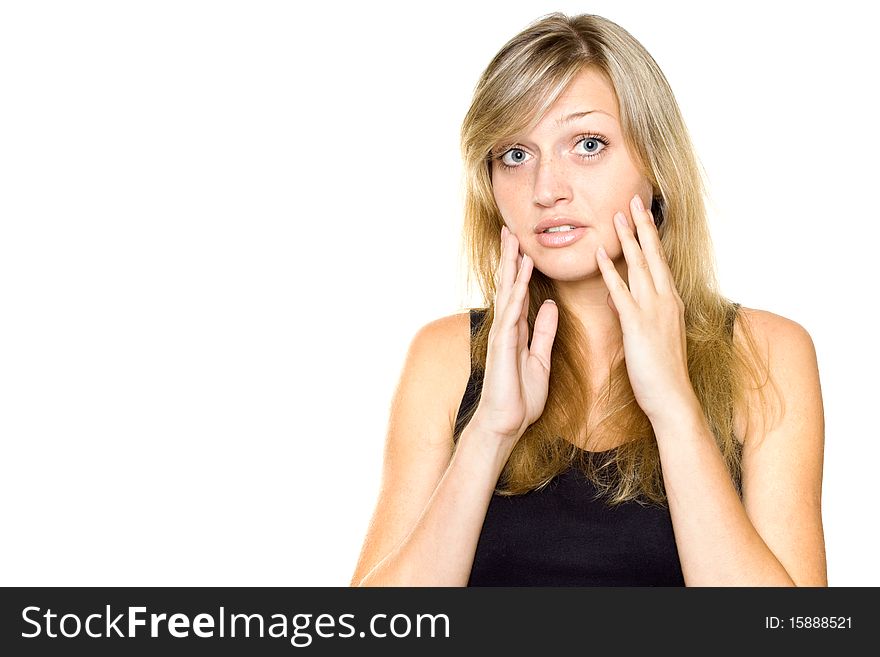
[[[352,584],[827,585],[813,343],[718,291],[650,54],[598,16],[533,23],[462,153],[486,307],[412,341]]]

